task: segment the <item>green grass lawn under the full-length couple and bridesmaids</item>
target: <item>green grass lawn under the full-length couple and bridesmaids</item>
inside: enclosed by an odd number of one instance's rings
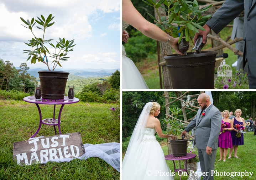
[[[231,159],[228,159],[229,156],[229,150],[228,149],[228,155],[226,157],[226,162],[219,161],[220,158],[220,149],[217,149],[215,164],[214,164],[214,170],[217,172],[253,172],[251,178],[249,176],[234,176],[231,178],[230,176],[216,176],[214,175],[214,180],[238,180],[238,179],[244,179],[244,180],[256,180],[256,136],[252,136],[254,132],[247,132],[246,135],[244,135],[244,145],[238,147],[237,156],[239,159],[234,158],[234,151],[232,153]],[[160,142],[162,145],[162,150],[164,152],[164,155],[166,156],[168,154],[166,140]],[[125,151],[122,152],[122,158],[125,156]],[[174,171],[174,165],[173,161],[166,160],[170,170]],[[179,168],[179,161],[174,161],[176,168]],[[184,168],[184,162],[181,161],[181,168]],[[180,176],[175,174],[173,176],[174,180],[179,180]],[[182,180],[187,180],[188,176],[181,176]],[[201,180],[203,177],[201,177]]]

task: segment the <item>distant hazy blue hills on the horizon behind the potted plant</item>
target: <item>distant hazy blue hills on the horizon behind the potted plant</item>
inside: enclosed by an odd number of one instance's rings
[[[19,67],[17,67],[19,69]],[[30,73],[32,76],[38,78],[39,74],[38,71],[47,71],[48,69],[42,69],[42,68],[36,68],[36,69],[29,69],[28,73]],[[120,69],[55,69],[55,71],[67,71],[70,75],[76,75],[80,77],[73,77],[75,79],[82,79],[87,77],[109,77],[112,73],[114,73],[116,70],[120,71]],[[71,79],[71,80],[75,80]]]

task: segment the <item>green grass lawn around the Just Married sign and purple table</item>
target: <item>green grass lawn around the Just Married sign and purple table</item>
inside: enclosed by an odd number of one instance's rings
[[[61,105],[56,105],[55,118]],[[65,105],[61,114],[62,134],[80,131],[83,144],[120,141],[120,119],[109,108],[114,104],[78,102]],[[53,117],[52,105],[40,105],[42,119]],[[0,179],[120,179],[120,173],[100,158],[21,167],[12,162],[14,142],[29,139],[39,125],[35,104],[0,101]],[[58,134],[58,128],[57,134]],[[38,136],[55,135],[53,126],[42,124]]]

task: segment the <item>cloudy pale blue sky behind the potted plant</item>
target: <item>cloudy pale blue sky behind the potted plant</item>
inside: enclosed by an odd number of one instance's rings
[[[63,68],[120,68],[120,0],[0,0],[0,58],[15,67],[26,62],[28,56],[22,52],[30,48],[24,42],[33,34],[21,26],[25,23],[20,17],[31,21],[49,14],[55,16],[51,21],[55,23],[46,29],[45,39],[54,39],[54,45],[59,38],[75,39],[69,60],[61,61]],[[33,33],[42,38],[43,30],[36,26],[41,27],[36,23]],[[48,43],[46,47],[55,51]],[[26,63],[30,68],[47,68],[41,62]]]

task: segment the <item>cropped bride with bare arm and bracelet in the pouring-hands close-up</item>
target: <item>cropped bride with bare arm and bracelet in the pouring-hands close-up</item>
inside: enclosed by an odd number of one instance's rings
[[[155,24],[148,22],[135,9],[130,0],[122,0],[122,32],[129,26],[133,26],[144,35],[162,42],[168,43],[178,54],[179,38],[173,38],[164,33]],[[125,43],[127,39],[125,40]],[[145,80],[130,58],[126,57],[125,48],[122,45],[122,89],[148,89]]]

